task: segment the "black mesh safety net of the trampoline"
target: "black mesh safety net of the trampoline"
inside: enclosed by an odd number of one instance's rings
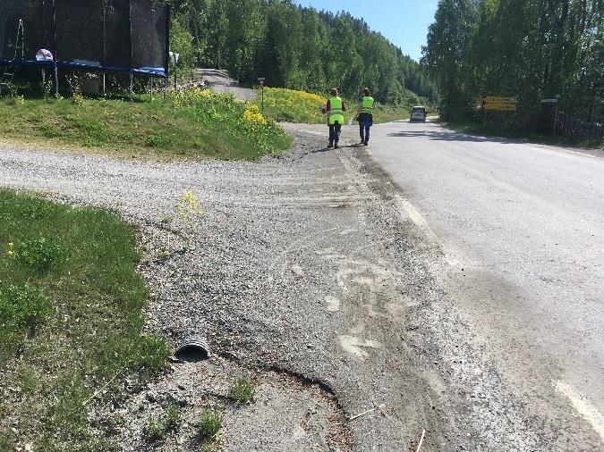
[[[1,0],[0,63],[167,77],[170,7],[153,0]]]

